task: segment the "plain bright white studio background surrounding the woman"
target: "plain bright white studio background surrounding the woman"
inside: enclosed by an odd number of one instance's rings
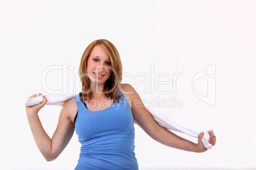
[[[255,20],[255,1],[0,1],[0,169],[74,169],[80,152],[76,134],[56,160],[46,162],[32,138],[23,102],[47,92],[41,74],[52,65],[70,70],[49,72],[48,87],[78,93],[79,80],[69,77],[66,86],[62,75],[75,77],[84,49],[100,38],[115,44],[124,73],[136,82],[143,81],[136,74],[150,75],[152,64],[155,76],[182,73],[176,94],[153,90],[141,98],[175,96],[182,107],[157,109],[199,129],[213,129],[217,136],[212,150],[196,154],[157,143],[136,125],[140,169],[255,169]],[[194,75],[212,64],[214,107],[192,93]],[[207,79],[202,80],[195,86],[205,94]],[[39,112],[50,136],[60,110],[46,106]]]

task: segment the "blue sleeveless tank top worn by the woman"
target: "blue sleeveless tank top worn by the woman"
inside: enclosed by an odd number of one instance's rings
[[[82,145],[76,170],[138,169],[132,111],[122,91],[120,95],[118,103],[96,112],[88,110],[80,96],[75,96],[75,129]]]

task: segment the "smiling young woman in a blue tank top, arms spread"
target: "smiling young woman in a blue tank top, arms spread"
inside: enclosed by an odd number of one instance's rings
[[[192,143],[159,126],[134,88],[120,83],[122,63],[110,41],[99,39],[85,49],[79,74],[82,93],[63,106],[52,138],[46,134],[38,117],[47,101],[45,96],[42,103],[26,107],[34,140],[47,161],[59,156],[76,129],[82,147],[75,169],[138,169],[133,121],[168,147],[191,152],[207,150],[202,143],[203,133],[199,134],[198,143]],[[213,131],[208,133],[209,142],[215,145]]]

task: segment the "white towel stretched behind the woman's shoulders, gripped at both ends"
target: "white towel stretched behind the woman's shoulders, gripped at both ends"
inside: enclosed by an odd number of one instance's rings
[[[43,101],[43,96],[47,98],[47,103],[46,105],[61,105],[63,106],[66,101],[70,100],[73,98],[75,95],[41,95],[35,98],[29,98],[25,100],[24,104],[26,106],[33,106],[41,103]],[[190,128],[181,122],[174,121],[173,119],[166,117],[163,114],[160,114],[159,112],[152,110],[151,108],[146,108],[148,112],[152,115],[153,119],[160,125],[163,126],[164,128],[167,128],[169,130],[173,131],[178,131],[181,133],[188,134],[190,136],[193,136],[195,138],[198,137],[199,133],[201,131],[196,130],[195,128]],[[205,148],[211,148],[213,145],[209,143],[210,140],[210,135],[204,131],[204,136],[203,136],[203,144]]]

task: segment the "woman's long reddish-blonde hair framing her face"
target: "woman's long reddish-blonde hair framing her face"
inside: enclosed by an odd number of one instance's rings
[[[110,56],[111,60],[111,75],[105,83],[105,87],[103,93],[108,97],[113,99],[114,101],[118,102],[118,99],[121,97],[119,95],[120,91],[120,82],[122,81],[122,63],[120,59],[120,55],[117,51],[117,48],[108,40],[106,39],[98,39],[93,41],[89,44],[89,46],[83,52],[80,67],[79,67],[79,76],[82,82],[82,96],[80,98],[82,100],[87,101],[92,89],[90,87],[90,79],[87,76],[87,60],[92,52],[92,49],[96,45],[103,46],[106,49],[108,55]]]

